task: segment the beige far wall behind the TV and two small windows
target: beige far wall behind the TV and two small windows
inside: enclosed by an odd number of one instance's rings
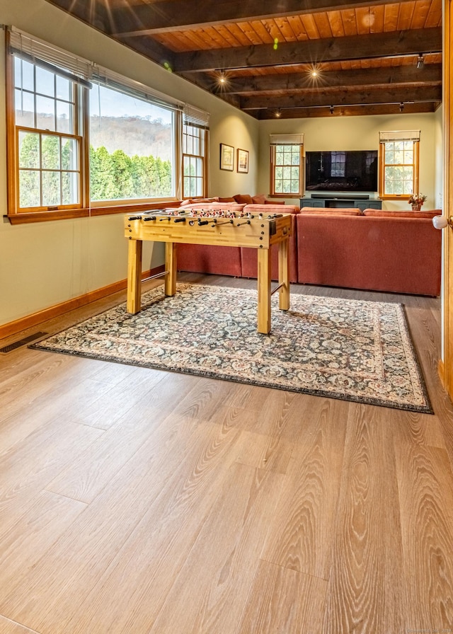
[[[428,196],[425,209],[442,202],[442,119],[438,113],[423,115],[374,115],[321,117],[319,119],[260,122],[258,189],[269,191],[270,134],[304,134],[305,151],[378,149],[379,130],[420,130],[420,192]],[[294,202],[287,199],[287,202]],[[409,209],[406,202],[386,201],[384,209]]]

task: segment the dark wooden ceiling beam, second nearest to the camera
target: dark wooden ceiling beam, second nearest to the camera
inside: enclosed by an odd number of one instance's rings
[[[177,73],[243,69],[294,64],[321,64],[374,57],[401,57],[442,51],[442,28],[422,28],[343,38],[284,42],[277,50],[270,45],[231,47],[176,53]]]

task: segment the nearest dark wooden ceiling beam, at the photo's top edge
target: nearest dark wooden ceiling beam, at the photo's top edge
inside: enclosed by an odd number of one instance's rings
[[[59,0],[60,2],[63,0]],[[399,3],[411,0],[398,0]],[[156,35],[178,30],[205,28],[219,24],[303,16],[324,11],[342,11],[363,6],[394,4],[394,0],[163,0],[130,8],[120,7],[111,12],[117,30],[111,35]]]

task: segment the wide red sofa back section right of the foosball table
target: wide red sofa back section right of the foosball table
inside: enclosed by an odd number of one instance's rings
[[[440,294],[441,232],[432,212],[297,214],[297,281],[403,294]]]

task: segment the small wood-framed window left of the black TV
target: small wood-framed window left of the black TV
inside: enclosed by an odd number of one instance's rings
[[[278,197],[302,195],[303,134],[270,135],[270,195]]]

